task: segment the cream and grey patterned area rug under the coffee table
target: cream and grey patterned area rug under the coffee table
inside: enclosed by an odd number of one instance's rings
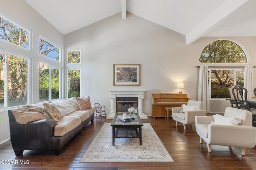
[[[104,123],[80,162],[174,162],[150,123],[142,126],[139,138],[115,138],[111,123]]]

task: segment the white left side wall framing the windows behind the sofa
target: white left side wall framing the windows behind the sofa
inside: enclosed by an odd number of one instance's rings
[[[0,14],[8,17],[12,21],[20,24],[21,26],[27,27],[31,30],[31,43],[32,48],[26,50],[20,48],[11,43],[0,40],[0,47],[4,51],[11,51],[17,53],[17,55],[23,55],[32,59],[32,72],[30,87],[33,90],[31,94],[31,103],[39,102],[39,63],[49,63],[47,57],[42,57],[39,55],[39,36],[43,36],[46,39],[54,42],[60,48],[64,49],[64,35],[60,33],[55,27],[53,27],[48,21],[46,21],[42,16],[40,16],[31,6],[29,6],[24,0],[1,0],[0,2]],[[64,67],[63,63],[58,61],[53,61],[56,66]],[[7,110],[0,108],[0,116],[2,121],[0,121],[0,143],[5,141],[10,137],[9,134],[9,118]]]

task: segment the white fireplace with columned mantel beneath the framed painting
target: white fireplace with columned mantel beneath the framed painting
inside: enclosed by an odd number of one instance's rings
[[[130,106],[137,109],[140,119],[148,119],[148,116],[144,114],[143,110],[144,92],[145,90],[110,90],[111,111],[110,113],[107,113],[107,119],[113,119],[116,113],[122,113],[122,111],[128,113],[128,108]],[[119,100],[120,98],[121,100]],[[117,101],[125,102],[120,103]],[[118,106],[119,104],[120,106]],[[124,105],[124,108],[122,111],[118,111],[117,109],[119,109],[119,107],[122,108],[122,104]]]

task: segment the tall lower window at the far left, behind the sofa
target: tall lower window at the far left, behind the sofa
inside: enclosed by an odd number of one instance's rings
[[[0,56],[0,107],[28,104],[29,60],[11,54]]]

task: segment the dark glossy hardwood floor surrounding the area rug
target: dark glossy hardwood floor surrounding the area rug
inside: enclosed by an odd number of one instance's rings
[[[54,169],[54,170],[233,170],[256,169],[256,147],[246,149],[246,156],[241,155],[238,147],[212,145],[212,152],[207,151],[206,143],[199,143],[194,125],[175,126],[175,121],[164,118],[143,119],[156,131],[158,137],[174,159],[174,162],[107,162],[80,163],[94,137],[110,119],[94,118],[65,147],[60,156],[51,151],[24,150],[22,156],[15,156],[10,141],[0,145],[0,169]],[[104,141],[102,141],[104,143]],[[142,141],[143,143],[143,141]],[[154,146],[152,146],[154,147]],[[6,164],[6,161],[17,164]],[[27,164],[20,164],[24,161]],[[27,162],[28,161],[28,162]]]

